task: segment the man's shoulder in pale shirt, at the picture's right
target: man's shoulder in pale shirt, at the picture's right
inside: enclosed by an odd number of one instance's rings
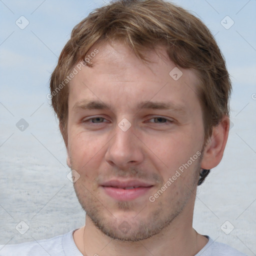
[[[227,244],[215,242],[210,237],[208,239],[207,244],[195,256],[246,256]]]

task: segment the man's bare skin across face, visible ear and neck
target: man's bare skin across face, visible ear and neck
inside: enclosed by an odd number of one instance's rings
[[[74,242],[86,255],[195,255],[208,241],[192,228],[199,169],[220,162],[229,119],[224,116],[213,127],[204,146],[198,78],[192,69],[179,68],[182,75],[174,80],[169,72],[175,64],[162,46],[146,52],[148,63],[118,41],[96,44],[91,51],[95,48],[93,67],[84,66],[69,84],[67,164],[80,175],[74,189],[86,211],[86,228],[73,233]],[[81,107],[86,100],[109,108]],[[136,109],[149,100],[175,107]],[[126,131],[118,126],[123,118],[131,124]],[[149,201],[197,151],[202,157]],[[113,177],[152,186],[135,199],[116,200],[100,186]],[[119,228],[123,223],[126,232]]]

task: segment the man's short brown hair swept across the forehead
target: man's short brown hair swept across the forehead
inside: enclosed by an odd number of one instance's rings
[[[195,70],[200,81],[196,93],[203,112],[204,141],[211,136],[212,127],[229,115],[231,83],[225,61],[202,21],[164,0],[117,0],[95,9],[73,28],[51,75],[52,107],[63,127],[65,143],[68,84],[57,93],[56,89],[94,43],[110,40],[131,47],[143,61],[147,61],[145,49],[164,45],[177,66]],[[200,177],[201,182],[203,179]]]

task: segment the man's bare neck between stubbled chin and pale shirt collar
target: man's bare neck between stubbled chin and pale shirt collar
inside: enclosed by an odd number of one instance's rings
[[[182,219],[183,221],[180,221]],[[159,234],[147,239],[127,242],[114,240],[103,234],[86,216],[85,226],[74,232],[74,241],[83,255],[187,255],[193,256],[207,243],[205,236],[198,234],[192,228],[192,218],[184,221],[182,214],[178,215]]]

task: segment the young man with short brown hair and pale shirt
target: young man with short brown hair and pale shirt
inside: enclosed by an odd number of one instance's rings
[[[192,228],[231,90],[199,19],[162,0],[98,8],[74,27],[50,89],[85,226],[0,255],[243,255]]]

